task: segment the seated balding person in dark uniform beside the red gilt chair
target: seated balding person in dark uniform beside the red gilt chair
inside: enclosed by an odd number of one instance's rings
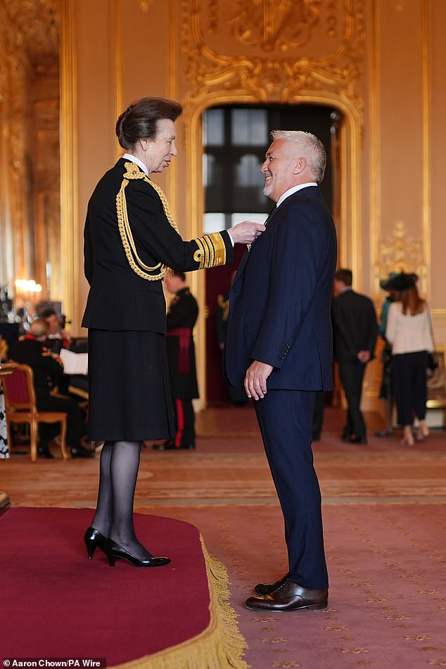
[[[40,411],[65,412],[67,414],[67,444],[72,457],[92,457],[94,452],[84,448],[81,440],[85,434],[85,421],[77,402],[68,397],[51,395],[51,390],[58,385],[63,376],[63,366],[58,357],[45,346],[48,324],[45,319],[37,319],[30,325],[30,330],[9,353],[10,358],[20,364],[27,364],[34,373],[34,391],[37,409]],[[54,436],[53,425],[39,425],[39,455],[53,457],[49,442]]]

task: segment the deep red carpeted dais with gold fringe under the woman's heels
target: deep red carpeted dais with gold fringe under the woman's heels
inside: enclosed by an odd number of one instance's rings
[[[108,667],[138,658],[147,668],[246,666],[233,612],[212,603],[209,566],[220,569],[220,587],[222,565],[203,554],[196,527],[136,515],[141,541],[172,562],[138,569],[117,561],[110,568],[99,550],[87,560],[90,520],[89,509],[20,508],[0,516],[1,657],[106,658]],[[178,644],[181,661],[169,661],[163,652]]]

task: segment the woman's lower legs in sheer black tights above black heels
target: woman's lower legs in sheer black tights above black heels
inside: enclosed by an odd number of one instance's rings
[[[141,442],[106,441],[101,451],[98,503],[92,527],[139,559],[153,557],[136,538],[133,500]]]

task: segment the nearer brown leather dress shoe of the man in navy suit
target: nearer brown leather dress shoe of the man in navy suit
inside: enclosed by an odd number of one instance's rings
[[[248,597],[246,609],[253,611],[298,611],[326,609],[329,603],[328,590],[309,590],[291,580],[286,580],[272,594],[265,597]]]

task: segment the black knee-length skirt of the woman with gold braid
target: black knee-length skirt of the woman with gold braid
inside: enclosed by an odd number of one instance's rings
[[[89,330],[89,438],[174,438],[165,336]]]

